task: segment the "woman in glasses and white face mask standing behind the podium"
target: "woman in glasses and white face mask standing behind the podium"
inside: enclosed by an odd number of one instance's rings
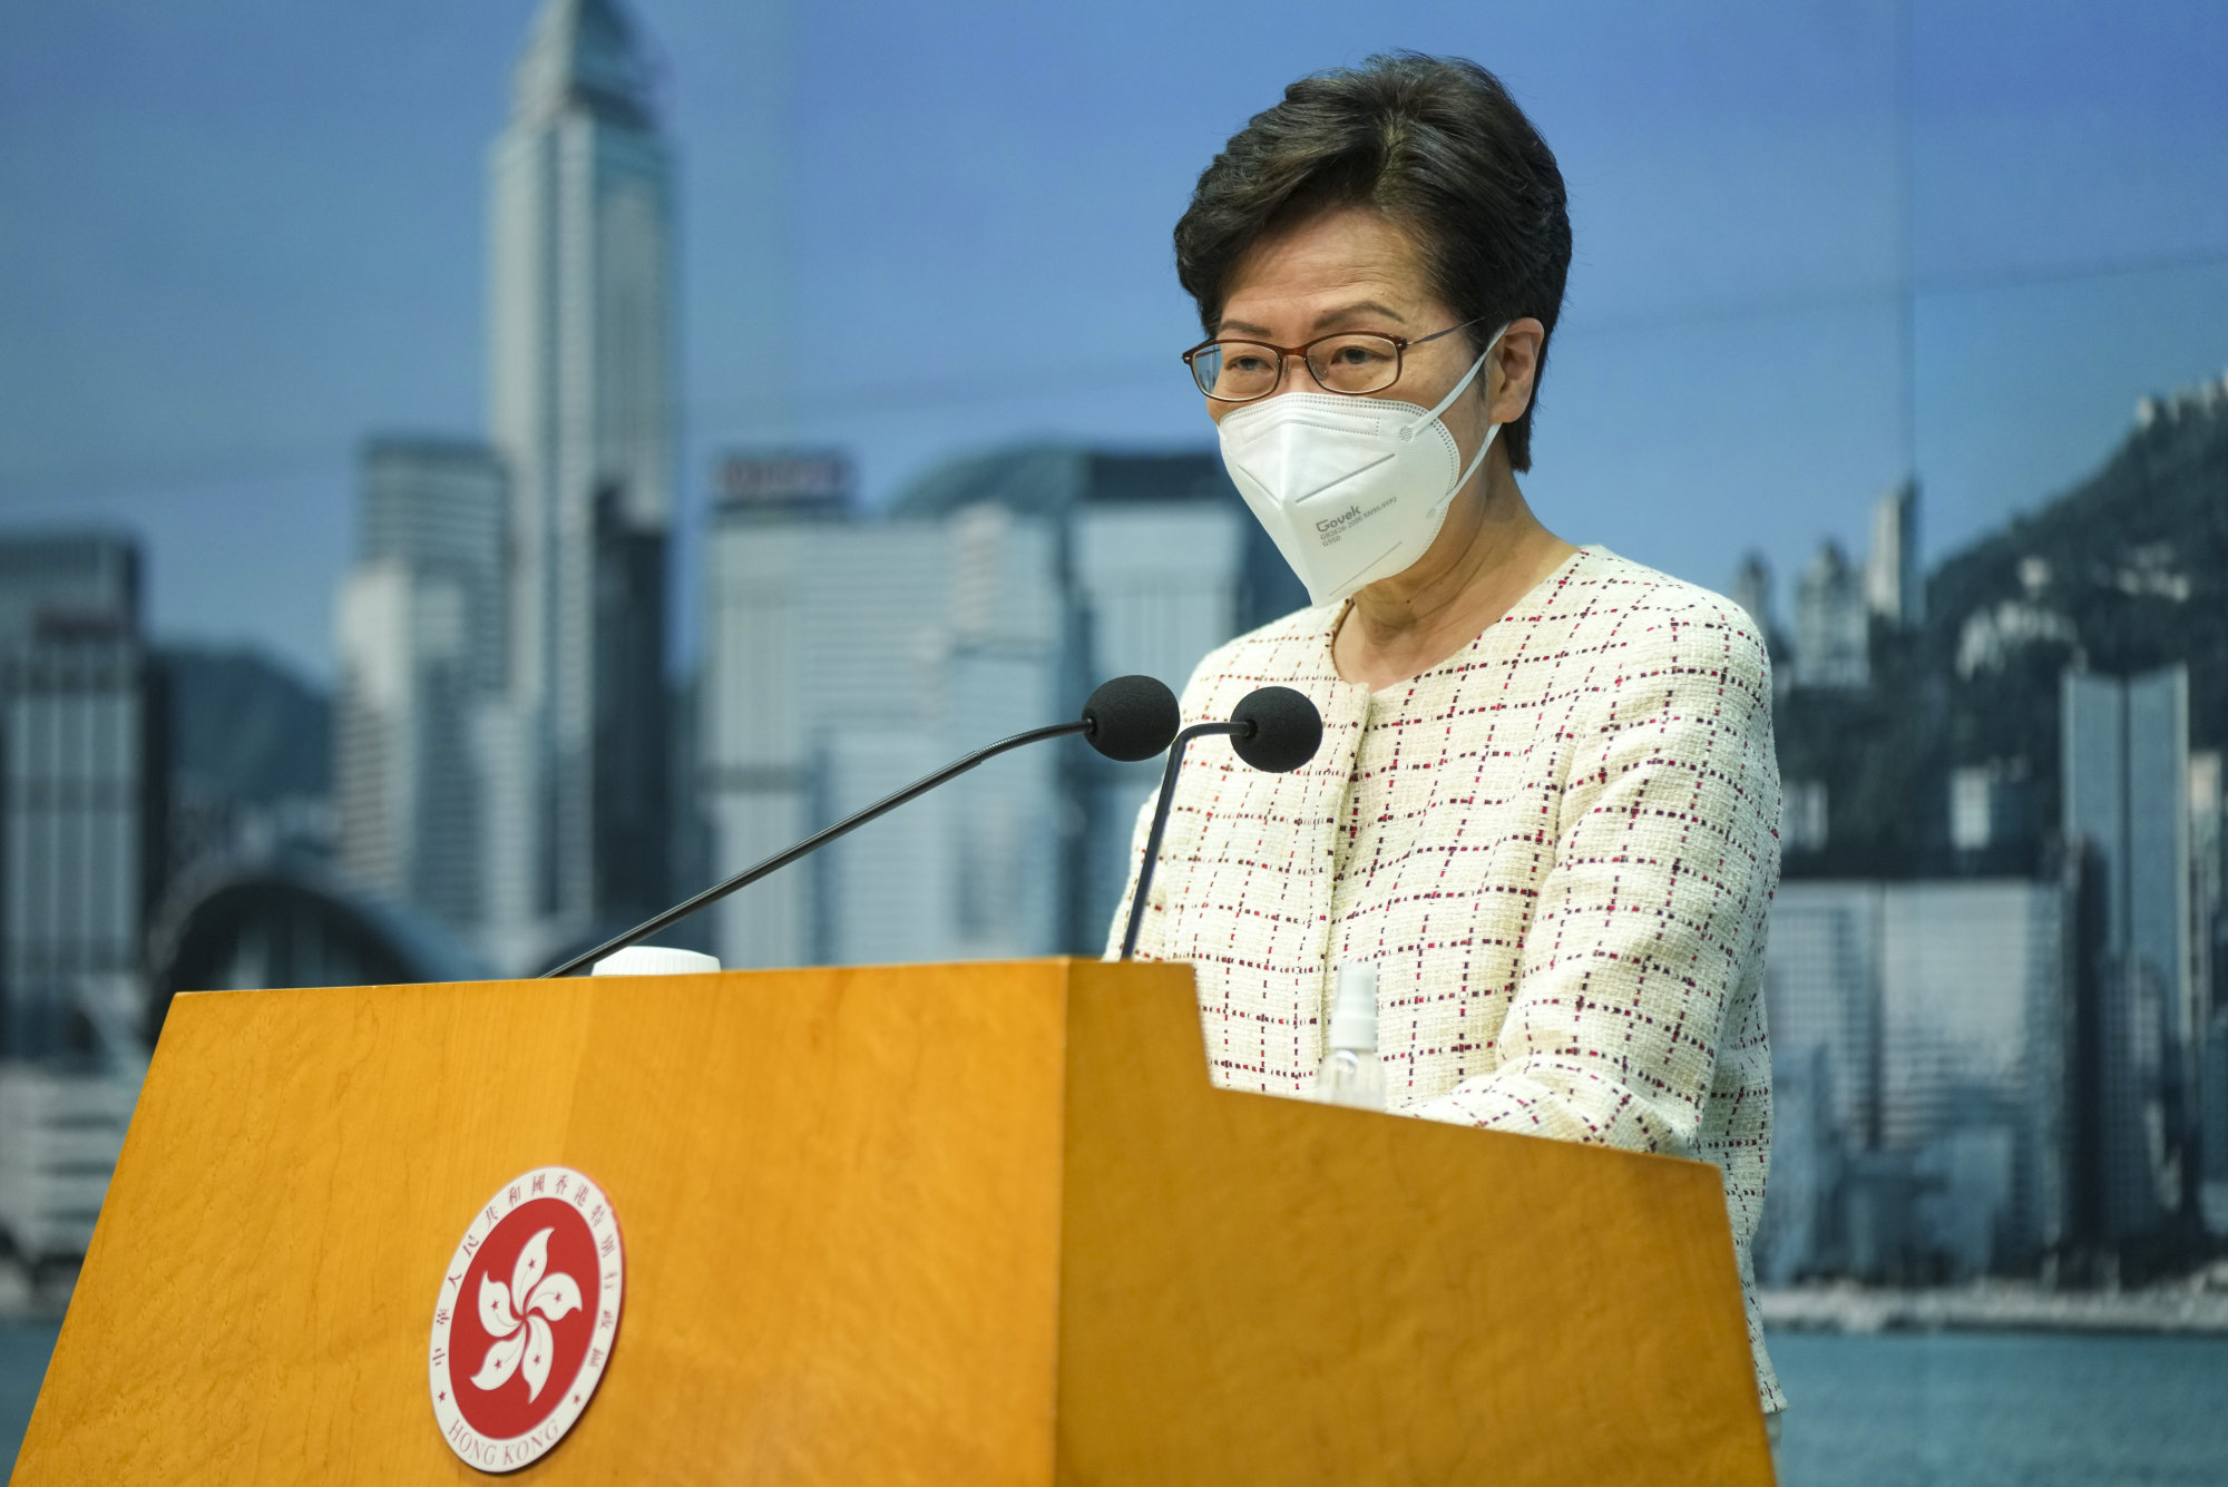
[[[1462,60],[1294,82],[1199,178],[1185,361],[1315,605],[1210,654],[1183,712],[1283,683],[1326,728],[1294,775],[1196,748],[1139,953],[1199,968],[1223,1086],[1306,1091],[1330,971],[1366,959],[1390,1109],[1716,1162],[1776,1427],[1769,661],[1733,603],[1526,505],[1569,263],[1555,158]]]

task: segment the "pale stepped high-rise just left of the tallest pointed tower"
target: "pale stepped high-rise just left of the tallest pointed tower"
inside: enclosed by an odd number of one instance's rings
[[[486,752],[501,706],[508,485],[481,445],[374,439],[341,588],[341,870],[452,928],[483,926]]]

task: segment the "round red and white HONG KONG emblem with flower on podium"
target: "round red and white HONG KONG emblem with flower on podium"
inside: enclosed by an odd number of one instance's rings
[[[619,1336],[626,1251],[604,1189],[537,1166],[490,1198],[457,1244],[432,1313],[441,1438],[481,1471],[517,1471],[579,1420]]]

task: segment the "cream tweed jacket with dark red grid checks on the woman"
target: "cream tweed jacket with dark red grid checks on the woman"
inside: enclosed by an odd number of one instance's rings
[[[1192,743],[1139,957],[1196,966],[1221,1086],[1303,1093],[1330,966],[1370,959],[1390,1109],[1718,1164],[1758,1391],[1785,1407],[1749,1267],[1771,1149],[1762,971],[1780,873],[1756,626],[1602,548],[1377,695],[1339,679],[1337,619],[1301,610],[1192,674],[1185,723],[1281,683],[1321,708],[1323,746],[1292,775],[1263,775],[1223,739]],[[1150,815],[1152,801],[1132,884]],[[1110,953],[1121,933],[1116,913]]]

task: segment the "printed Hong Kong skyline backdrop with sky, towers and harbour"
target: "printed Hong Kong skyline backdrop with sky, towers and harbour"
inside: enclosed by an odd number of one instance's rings
[[[1571,187],[1535,508],[1771,648],[1785,1480],[2212,1480],[2228,11],[1259,16],[9,11],[0,1456],[174,993],[559,964],[1297,605],[1170,227],[1413,47]],[[1016,752],[673,937],[1096,953],[1154,779]]]

